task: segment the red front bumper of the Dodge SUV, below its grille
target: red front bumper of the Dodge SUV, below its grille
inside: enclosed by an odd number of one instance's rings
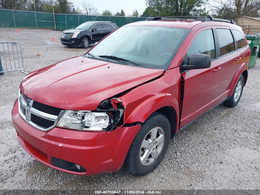
[[[55,127],[42,132],[22,120],[17,100],[12,118],[18,141],[31,156],[54,169],[77,175],[118,171],[141,128],[135,125],[106,132],[83,132]],[[77,171],[74,164],[84,169]]]

